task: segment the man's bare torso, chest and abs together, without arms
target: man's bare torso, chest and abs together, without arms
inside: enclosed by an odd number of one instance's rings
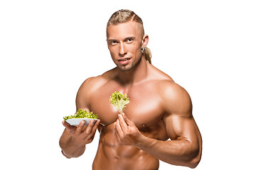
[[[90,95],[88,109],[98,115],[102,125],[99,128],[100,141],[93,169],[158,169],[158,159],[137,147],[119,145],[114,137],[114,122],[117,120],[118,111],[109,100],[114,91],[127,94],[130,103],[123,110],[127,118],[132,120],[146,137],[168,140],[163,121],[164,109],[161,107],[158,91],[161,81],[172,81],[171,78],[165,75],[159,76],[159,79],[154,77],[127,88],[104,74],[95,79],[97,84]]]

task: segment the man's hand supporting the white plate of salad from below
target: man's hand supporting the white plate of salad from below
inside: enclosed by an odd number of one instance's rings
[[[100,120],[96,122],[90,120],[88,125],[85,125],[85,121],[81,121],[77,127],[63,121],[63,125],[73,137],[73,142],[75,142],[76,145],[84,146],[94,139],[97,127],[100,125]]]

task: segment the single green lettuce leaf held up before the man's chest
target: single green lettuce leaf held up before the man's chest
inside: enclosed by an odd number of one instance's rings
[[[127,94],[121,94],[119,91],[115,91],[110,97],[110,101],[118,109],[119,113],[122,113],[122,109],[129,103],[129,98]]]

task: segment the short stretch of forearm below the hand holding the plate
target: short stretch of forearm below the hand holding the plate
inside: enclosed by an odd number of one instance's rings
[[[79,145],[71,136],[60,137],[60,148],[67,158],[80,157],[85,152],[85,145]]]

